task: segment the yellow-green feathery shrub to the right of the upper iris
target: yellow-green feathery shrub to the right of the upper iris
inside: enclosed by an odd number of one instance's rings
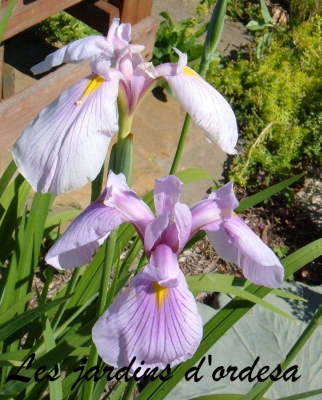
[[[230,177],[242,185],[284,179],[322,164],[322,18],[273,36],[266,56],[214,62],[208,81],[230,99],[243,154]]]

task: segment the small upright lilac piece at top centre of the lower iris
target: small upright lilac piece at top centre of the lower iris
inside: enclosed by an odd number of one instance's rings
[[[178,203],[183,183],[176,176],[168,175],[155,180],[154,205],[156,215],[168,213],[174,216],[174,207]]]

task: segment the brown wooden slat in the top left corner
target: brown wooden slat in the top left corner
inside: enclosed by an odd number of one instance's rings
[[[10,38],[80,1],[81,0],[36,0],[29,4],[23,4],[23,0],[18,0],[2,40],[4,41]],[[2,20],[6,5],[8,5],[8,2],[4,3],[1,8],[0,20]]]

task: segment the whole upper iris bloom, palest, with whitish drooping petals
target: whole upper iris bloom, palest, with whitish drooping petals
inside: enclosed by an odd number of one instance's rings
[[[186,66],[186,54],[177,51],[177,63],[154,68],[140,54],[144,46],[130,40],[131,25],[119,25],[114,19],[106,38],[77,40],[32,68],[38,74],[91,58],[93,71],[44,108],[13,147],[16,164],[35,191],[60,194],[95,179],[119,129],[118,96],[125,113],[121,117],[131,120],[144,95],[161,78],[206,131],[207,139],[227,153],[236,153],[237,126],[230,105]]]

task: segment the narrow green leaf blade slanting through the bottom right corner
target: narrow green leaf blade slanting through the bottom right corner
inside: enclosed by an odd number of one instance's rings
[[[292,363],[294,358],[298,355],[298,353],[305,346],[306,342],[312,336],[316,328],[322,323],[322,304],[318,308],[311,322],[303,331],[302,335],[298,338],[294,346],[291,348],[286,358],[281,362],[282,371],[285,371],[286,368]],[[241,400],[260,400],[263,398],[263,395],[268,391],[268,389],[273,385],[272,380],[264,381],[260,384],[257,384],[250,392],[245,394],[241,398]]]

